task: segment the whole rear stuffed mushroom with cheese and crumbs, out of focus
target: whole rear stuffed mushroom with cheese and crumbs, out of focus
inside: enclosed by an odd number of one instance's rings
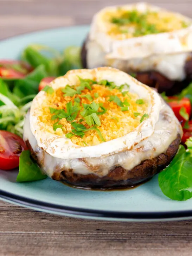
[[[192,20],[145,3],[107,7],[91,23],[84,68],[112,66],[168,95],[192,78]]]

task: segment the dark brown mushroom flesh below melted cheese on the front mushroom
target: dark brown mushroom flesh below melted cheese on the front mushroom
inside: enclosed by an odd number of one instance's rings
[[[122,166],[116,166],[110,170],[108,175],[99,177],[96,174],[76,174],[72,169],[62,170],[57,168],[52,175],[52,179],[84,188],[108,189],[116,187],[132,187],[149,180],[168,166],[177,153],[180,142],[181,136],[178,134],[177,138],[167,148],[166,153],[162,153],[153,159],[144,160],[141,164],[129,171],[126,171]],[[36,154],[33,152],[30,143],[26,141],[26,144],[30,149],[33,158],[37,160]],[[41,163],[38,164],[42,167]]]

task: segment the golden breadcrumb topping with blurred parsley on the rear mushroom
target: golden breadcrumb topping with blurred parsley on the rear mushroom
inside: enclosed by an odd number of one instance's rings
[[[117,39],[145,36],[171,32],[188,27],[181,17],[167,11],[139,12],[136,9],[128,11],[117,8],[116,11],[107,11],[102,19],[106,23],[108,34]]]

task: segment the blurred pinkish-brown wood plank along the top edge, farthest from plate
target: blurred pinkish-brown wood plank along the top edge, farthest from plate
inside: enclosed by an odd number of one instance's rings
[[[132,0],[120,0],[118,4],[127,4],[132,3]],[[136,2],[136,1],[135,1]],[[192,14],[191,12],[191,4],[192,1],[161,1],[161,0],[149,0],[149,3],[155,3],[156,5],[164,8],[168,8],[173,11],[180,11],[184,14]],[[175,3],[175,4],[174,4]],[[18,1],[9,0],[2,1],[0,14],[33,14],[33,15],[71,15],[72,17],[92,17],[92,14],[100,10],[105,6],[116,5],[116,0],[38,0],[38,2],[34,1],[23,1],[22,8],[20,8],[20,4]],[[12,6],[12,8],[10,8]],[[76,8],[74,8],[76,7]],[[77,11],[78,8],[78,11]]]

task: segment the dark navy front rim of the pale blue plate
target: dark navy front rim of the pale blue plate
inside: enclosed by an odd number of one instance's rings
[[[52,203],[45,203],[35,199],[30,199],[13,193],[0,190],[0,199],[8,200],[13,204],[19,204],[27,208],[36,208],[40,211],[56,212],[62,215],[73,215],[76,217],[92,217],[92,218],[110,218],[110,219],[135,219],[135,220],[161,220],[174,218],[192,217],[192,210],[173,211],[173,212],[119,212],[119,211],[103,211],[94,209],[84,209],[72,206],[62,206]]]

